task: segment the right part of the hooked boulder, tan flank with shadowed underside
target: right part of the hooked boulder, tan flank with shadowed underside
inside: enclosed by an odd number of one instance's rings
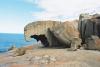
[[[49,29],[48,41],[50,46],[71,47],[71,50],[79,48],[81,39],[78,29],[75,27],[75,21],[66,21],[53,29]]]

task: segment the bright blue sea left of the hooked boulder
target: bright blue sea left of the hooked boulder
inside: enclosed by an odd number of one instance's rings
[[[0,53],[7,52],[12,45],[20,48],[34,43],[35,39],[30,42],[25,41],[24,34],[0,33]]]

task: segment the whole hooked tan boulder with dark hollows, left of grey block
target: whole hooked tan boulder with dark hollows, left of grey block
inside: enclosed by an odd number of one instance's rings
[[[37,21],[24,28],[26,40],[34,38],[45,47],[71,47],[76,50],[81,44],[77,29],[78,21]]]

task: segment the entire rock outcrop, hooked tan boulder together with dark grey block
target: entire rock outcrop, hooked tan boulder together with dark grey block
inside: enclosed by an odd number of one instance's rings
[[[86,49],[100,49],[100,15],[80,14],[79,21],[37,21],[24,28],[26,40],[41,41],[45,47],[79,46]],[[82,39],[82,41],[81,41]],[[82,45],[81,45],[82,44]]]

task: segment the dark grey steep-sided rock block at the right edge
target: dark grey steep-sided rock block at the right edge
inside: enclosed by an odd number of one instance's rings
[[[98,43],[98,48],[95,47],[97,46],[95,41],[100,41],[100,15],[81,14],[79,21],[82,44],[86,44],[87,49],[100,49],[100,43]],[[94,37],[96,37],[96,39]]]

